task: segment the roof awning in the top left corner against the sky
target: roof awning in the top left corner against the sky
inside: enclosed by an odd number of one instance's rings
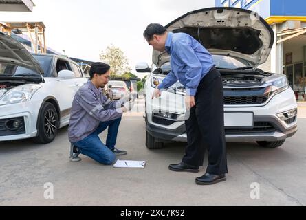
[[[32,12],[34,3],[31,0],[0,0],[0,11]]]

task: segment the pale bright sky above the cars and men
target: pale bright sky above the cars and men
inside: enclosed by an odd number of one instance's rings
[[[100,61],[113,44],[124,52],[133,74],[138,62],[151,65],[152,47],[142,34],[149,23],[166,25],[215,0],[32,0],[33,12],[0,12],[0,21],[42,21],[47,47],[75,58]]]

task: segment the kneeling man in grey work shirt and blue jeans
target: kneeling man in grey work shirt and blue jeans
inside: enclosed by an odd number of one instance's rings
[[[109,81],[110,66],[93,63],[89,70],[90,80],[80,87],[74,101],[68,128],[70,160],[80,161],[82,153],[101,164],[110,165],[116,155],[127,154],[115,148],[122,113],[133,107],[130,96],[111,101],[102,94],[102,87]],[[107,141],[103,144],[98,135],[108,128]]]

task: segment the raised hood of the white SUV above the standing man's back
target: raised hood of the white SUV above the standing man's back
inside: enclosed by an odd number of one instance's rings
[[[274,32],[256,12],[241,8],[204,8],[184,14],[165,26],[197,39],[211,54],[243,58],[254,67],[265,63],[274,43]],[[167,53],[153,50],[153,63],[168,61]]]

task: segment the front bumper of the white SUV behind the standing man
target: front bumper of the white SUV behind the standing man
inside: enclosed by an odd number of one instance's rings
[[[148,108],[149,107],[149,108]],[[146,110],[157,109],[154,106],[148,106]],[[225,106],[225,112],[252,112],[254,113],[254,127],[250,128],[237,128],[230,129],[225,127],[226,130],[226,142],[254,142],[254,141],[278,141],[284,140],[287,137],[291,137],[297,131],[297,118],[293,122],[287,124],[276,116],[278,113],[283,113],[292,109],[297,109],[296,100],[292,89],[287,89],[281,94],[276,94],[270,102],[264,106],[241,106],[231,107]],[[152,120],[152,114],[148,115],[148,124],[146,131],[148,131],[153,137],[157,138],[157,141],[179,141],[186,142],[187,135],[184,125],[184,121],[175,122],[170,126],[157,124]],[[297,116],[296,116],[297,117]],[[255,124],[267,124],[267,127],[261,129],[261,125],[258,127]]]

